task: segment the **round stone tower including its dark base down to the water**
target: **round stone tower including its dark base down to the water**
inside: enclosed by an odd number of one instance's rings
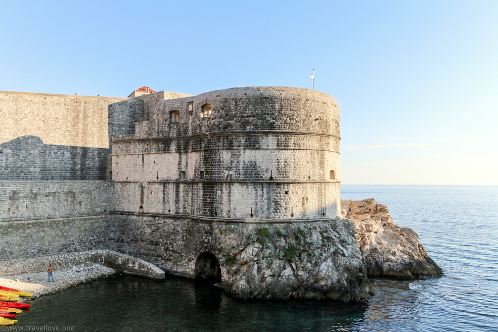
[[[195,277],[203,253],[227,255],[220,224],[257,232],[339,215],[339,106],[325,93],[217,90],[160,101],[144,119],[112,140],[113,250]]]

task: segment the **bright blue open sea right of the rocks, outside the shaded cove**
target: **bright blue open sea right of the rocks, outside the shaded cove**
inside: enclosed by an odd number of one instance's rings
[[[342,199],[358,198],[375,198],[415,229],[444,276],[377,288],[354,328],[498,331],[498,186],[342,186]]]

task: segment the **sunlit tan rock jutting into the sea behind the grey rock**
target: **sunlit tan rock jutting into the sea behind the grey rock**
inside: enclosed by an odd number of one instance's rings
[[[356,241],[371,276],[437,277],[442,270],[419,243],[411,228],[393,223],[387,206],[375,199],[341,201],[341,213],[354,223]]]

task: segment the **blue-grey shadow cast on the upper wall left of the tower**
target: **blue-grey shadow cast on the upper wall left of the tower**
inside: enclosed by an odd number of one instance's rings
[[[43,144],[21,136],[0,144],[0,180],[106,180],[110,149]]]

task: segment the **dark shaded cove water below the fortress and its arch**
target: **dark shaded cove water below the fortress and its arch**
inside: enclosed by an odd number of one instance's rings
[[[355,330],[367,308],[334,301],[244,301],[190,280],[120,276],[40,298],[18,325],[77,331]]]

